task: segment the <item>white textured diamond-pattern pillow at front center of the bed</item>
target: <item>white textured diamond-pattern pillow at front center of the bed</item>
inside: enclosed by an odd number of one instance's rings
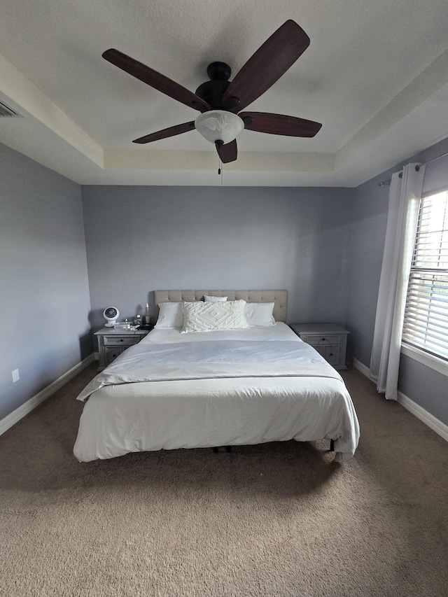
[[[248,328],[245,300],[184,302],[182,332],[214,332]]]

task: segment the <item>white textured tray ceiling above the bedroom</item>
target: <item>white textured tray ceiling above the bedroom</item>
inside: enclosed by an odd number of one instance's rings
[[[218,185],[197,113],[102,59],[117,48],[195,91],[232,76],[286,20],[311,44],[253,111],[323,123],[314,139],[243,131],[228,185],[357,185],[448,136],[447,0],[0,0],[0,141],[78,183]]]

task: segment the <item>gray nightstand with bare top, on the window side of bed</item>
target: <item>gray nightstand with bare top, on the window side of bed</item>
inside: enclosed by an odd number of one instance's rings
[[[290,323],[303,342],[320,353],[335,369],[346,369],[348,330],[335,323]]]

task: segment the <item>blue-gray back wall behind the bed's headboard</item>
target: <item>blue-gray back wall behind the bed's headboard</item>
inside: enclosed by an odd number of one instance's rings
[[[353,189],[83,186],[92,323],[153,290],[286,288],[288,321],[346,322]]]

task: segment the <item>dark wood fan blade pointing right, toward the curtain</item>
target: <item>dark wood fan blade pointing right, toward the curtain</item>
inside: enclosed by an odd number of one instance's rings
[[[311,137],[318,133],[322,126],[314,120],[267,112],[240,112],[239,118],[244,120],[244,128],[249,131],[274,135]]]

